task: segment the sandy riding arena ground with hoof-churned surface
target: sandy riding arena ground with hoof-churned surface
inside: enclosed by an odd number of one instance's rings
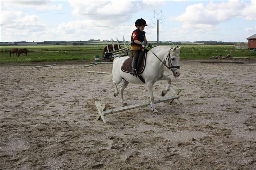
[[[108,115],[109,124],[95,120],[94,102],[117,108],[120,95],[87,71],[112,65],[84,65],[0,67],[0,169],[256,169],[255,62],[181,62],[180,77],[165,70],[181,105]],[[129,84],[124,98],[148,101],[147,87]]]

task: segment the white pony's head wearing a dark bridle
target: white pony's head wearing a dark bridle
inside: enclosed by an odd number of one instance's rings
[[[174,47],[170,51],[169,67],[171,67],[174,77],[180,76],[180,48]]]

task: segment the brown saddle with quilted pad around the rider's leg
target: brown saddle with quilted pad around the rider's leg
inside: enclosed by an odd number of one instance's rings
[[[137,67],[138,74],[141,74],[144,71],[146,66],[146,58],[147,58],[147,53],[145,53],[145,55],[142,56],[141,65]],[[122,68],[121,68],[123,72],[130,73],[132,71],[132,61],[133,61],[133,58],[129,57],[123,62]]]

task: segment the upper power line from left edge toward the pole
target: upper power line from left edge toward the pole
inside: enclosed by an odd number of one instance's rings
[[[38,11],[14,11],[0,9],[0,11],[12,11],[12,12],[28,12],[28,13],[43,13],[43,14],[65,14],[65,15],[91,15],[91,16],[142,16],[142,15],[131,15],[131,14],[72,14],[72,13],[58,13],[58,12],[38,12]],[[151,16],[151,15],[143,15]]]

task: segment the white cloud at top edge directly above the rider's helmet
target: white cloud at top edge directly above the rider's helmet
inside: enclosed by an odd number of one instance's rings
[[[154,4],[161,6],[164,2],[159,1],[128,1],[128,0],[110,0],[110,1],[80,1],[69,0],[69,4],[74,8],[73,14],[84,15],[86,18],[109,23],[124,23],[142,10],[151,11],[153,14]],[[90,15],[94,14],[94,15]],[[111,16],[110,16],[111,15]],[[113,16],[114,15],[114,16]],[[138,18],[141,16],[138,16]]]

